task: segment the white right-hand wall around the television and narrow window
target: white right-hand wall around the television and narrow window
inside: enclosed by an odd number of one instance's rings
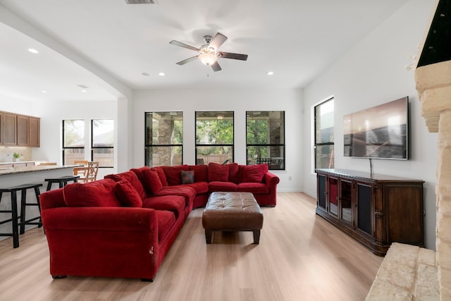
[[[392,17],[335,61],[304,89],[304,109],[329,95],[335,96],[335,168],[369,172],[369,160],[344,157],[343,116],[370,106],[409,96],[411,159],[372,160],[373,172],[425,180],[425,245],[435,249],[435,164],[437,135],[428,133],[421,117],[421,104],[415,90],[414,72],[405,65],[422,42],[435,0],[412,0]],[[305,142],[311,137],[311,116],[304,118]],[[309,167],[311,145],[304,148],[304,166]],[[304,190],[316,196],[316,176],[303,169]]]

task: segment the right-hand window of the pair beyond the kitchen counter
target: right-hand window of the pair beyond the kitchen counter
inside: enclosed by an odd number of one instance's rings
[[[91,161],[99,161],[99,167],[113,167],[114,121],[91,121]]]

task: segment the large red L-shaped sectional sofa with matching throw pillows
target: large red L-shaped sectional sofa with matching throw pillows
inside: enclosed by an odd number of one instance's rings
[[[152,281],[192,209],[210,192],[252,192],[276,206],[279,178],[266,164],[132,168],[40,195],[54,278],[100,276]]]

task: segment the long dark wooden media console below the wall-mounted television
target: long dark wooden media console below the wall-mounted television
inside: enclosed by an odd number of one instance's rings
[[[385,255],[392,242],[424,245],[423,180],[317,169],[316,214]]]

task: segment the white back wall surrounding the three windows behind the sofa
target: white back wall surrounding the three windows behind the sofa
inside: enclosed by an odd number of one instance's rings
[[[133,166],[144,165],[144,112],[183,111],[183,163],[195,164],[195,111],[235,112],[235,162],[246,164],[246,111],[285,111],[285,171],[279,191],[302,190],[302,96],[296,90],[147,90],[133,97]],[[288,177],[291,176],[291,180]]]

